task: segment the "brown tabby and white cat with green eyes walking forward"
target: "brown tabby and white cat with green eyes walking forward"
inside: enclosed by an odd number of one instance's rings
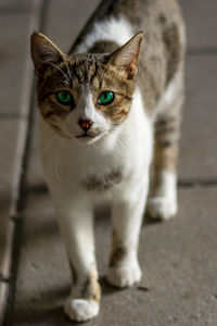
[[[141,279],[144,210],[154,220],[177,213],[184,51],[175,0],[102,1],[69,54],[31,35],[41,156],[73,274],[73,321],[100,309],[95,206],[112,208],[107,280],[116,287]]]

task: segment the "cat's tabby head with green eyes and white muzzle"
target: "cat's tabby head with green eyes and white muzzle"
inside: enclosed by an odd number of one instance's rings
[[[66,55],[31,35],[39,109],[60,136],[90,143],[127,118],[142,38],[138,33],[113,53]]]

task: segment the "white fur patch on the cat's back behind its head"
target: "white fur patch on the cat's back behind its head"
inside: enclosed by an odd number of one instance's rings
[[[86,52],[99,40],[112,40],[123,46],[132,37],[132,34],[129,23],[123,16],[95,23],[91,33],[86,36],[85,41],[76,48],[76,53]]]

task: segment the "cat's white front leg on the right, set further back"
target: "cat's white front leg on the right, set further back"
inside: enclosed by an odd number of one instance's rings
[[[140,190],[130,191],[113,202],[113,239],[108,281],[129,287],[141,279],[138,241],[148,192],[148,176]]]

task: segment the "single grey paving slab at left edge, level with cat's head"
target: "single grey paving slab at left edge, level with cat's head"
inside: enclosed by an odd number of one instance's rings
[[[24,102],[31,83],[29,35],[34,28],[34,13],[0,15],[0,30],[7,32],[0,40],[0,118],[27,114]]]

